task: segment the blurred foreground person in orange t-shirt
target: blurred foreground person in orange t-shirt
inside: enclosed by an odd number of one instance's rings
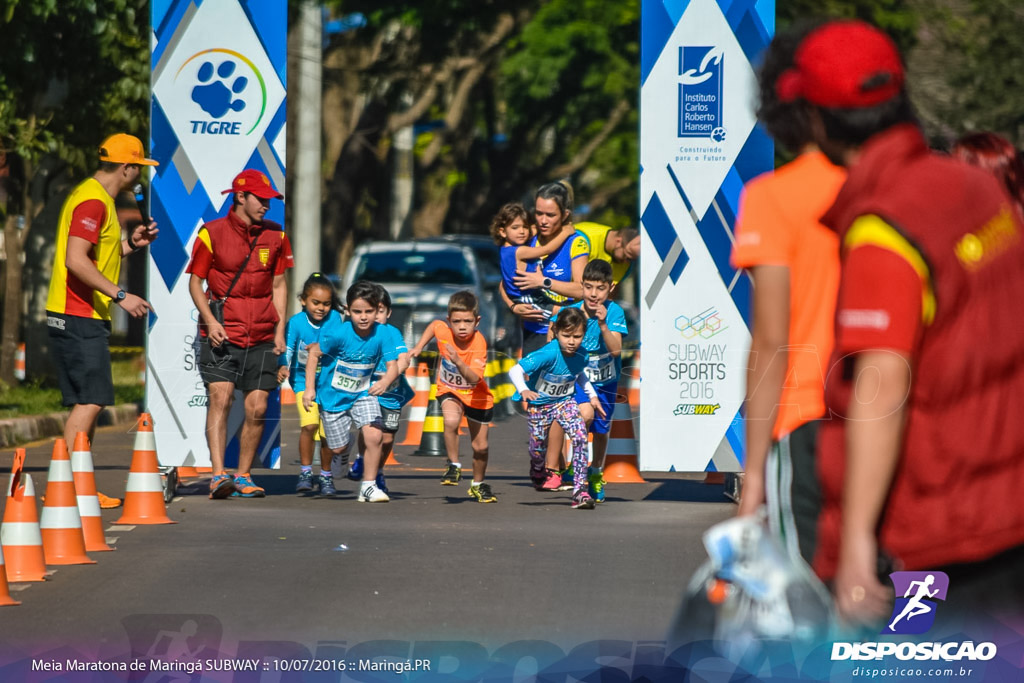
[[[773,536],[807,563],[821,507],[814,450],[839,289],[839,239],[819,219],[846,179],[814,144],[807,105],[775,93],[811,29],[779,37],[765,56],[758,119],[797,158],[743,188],[732,251],[733,265],[748,268],[754,283],[746,473],[737,514],[767,504]]]

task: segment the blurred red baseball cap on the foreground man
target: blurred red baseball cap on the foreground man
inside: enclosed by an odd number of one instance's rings
[[[775,94],[783,102],[803,97],[818,106],[862,109],[898,95],[904,76],[899,49],[881,30],[866,22],[829,22],[801,42]]]

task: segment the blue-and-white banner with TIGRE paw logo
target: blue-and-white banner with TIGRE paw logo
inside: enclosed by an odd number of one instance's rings
[[[198,313],[185,268],[200,226],[223,216],[221,191],[243,169],[285,188],[288,6],[276,0],[153,0],[151,138],[160,161],[152,206],[160,239],[151,248],[146,403],[164,465],[208,465],[206,389],[199,375]],[[284,224],[282,202],[267,219]],[[278,392],[257,454],[280,459]],[[244,417],[236,396],[226,460],[237,462]]]

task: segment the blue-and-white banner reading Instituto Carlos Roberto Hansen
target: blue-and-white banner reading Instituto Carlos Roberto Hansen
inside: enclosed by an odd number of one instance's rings
[[[774,0],[643,0],[640,467],[736,471],[750,281],[729,264],[743,183],[772,168],[753,63]]]

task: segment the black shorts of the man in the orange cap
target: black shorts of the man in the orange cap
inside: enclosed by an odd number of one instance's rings
[[[46,311],[50,354],[65,405],[113,405],[111,323]]]

